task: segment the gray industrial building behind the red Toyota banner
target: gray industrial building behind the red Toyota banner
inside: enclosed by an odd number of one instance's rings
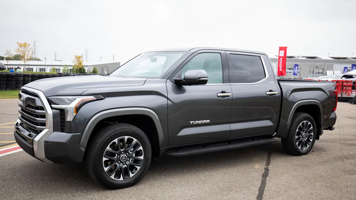
[[[278,54],[268,54],[273,68],[277,70]],[[294,64],[298,64],[298,74],[293,76]],[[287,54],[286,76],[281,78],[310,78],[322,75],[342,74],[344,67],[347,72],[351,70],[351,64],[356,64],[354,55],[309,55]]]

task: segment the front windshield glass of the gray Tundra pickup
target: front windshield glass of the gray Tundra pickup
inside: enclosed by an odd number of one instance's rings
[[[117,68],[109,76],[161,77],[185,52],[147,52]]]

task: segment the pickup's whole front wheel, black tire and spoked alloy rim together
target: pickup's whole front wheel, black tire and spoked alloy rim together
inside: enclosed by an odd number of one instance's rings
[[[126,188],[140,181],[151,163],[151,145],[136,126],[116,123],[103,128],[88,147],[87,169],[108,189]]]

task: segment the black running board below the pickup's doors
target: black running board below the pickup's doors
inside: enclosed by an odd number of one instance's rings
[[[215,152],[215,151],[224,151],[228,149],[236,149],[236,148],[242,148],[242,147],[250,147],[250,146],[255,146],[259,144],[269,144],[273,143],[276,140],[273,138],[266,138],[266,139],[261,139],[261,140],[252,140],[252,141],[246,141],[246,142],[235,142],[235,143],[226,143],[226,144],[219,144],[218,146],[208,146],[208,147],[202,147],[202,148],[195,148],[195,149],[183,149],[179,151],[168,151],[166,153],[167,156],[188,156],[188,155],[195,155],[195,154],[200,154],[200,153],[209,153],[209,152]]]

